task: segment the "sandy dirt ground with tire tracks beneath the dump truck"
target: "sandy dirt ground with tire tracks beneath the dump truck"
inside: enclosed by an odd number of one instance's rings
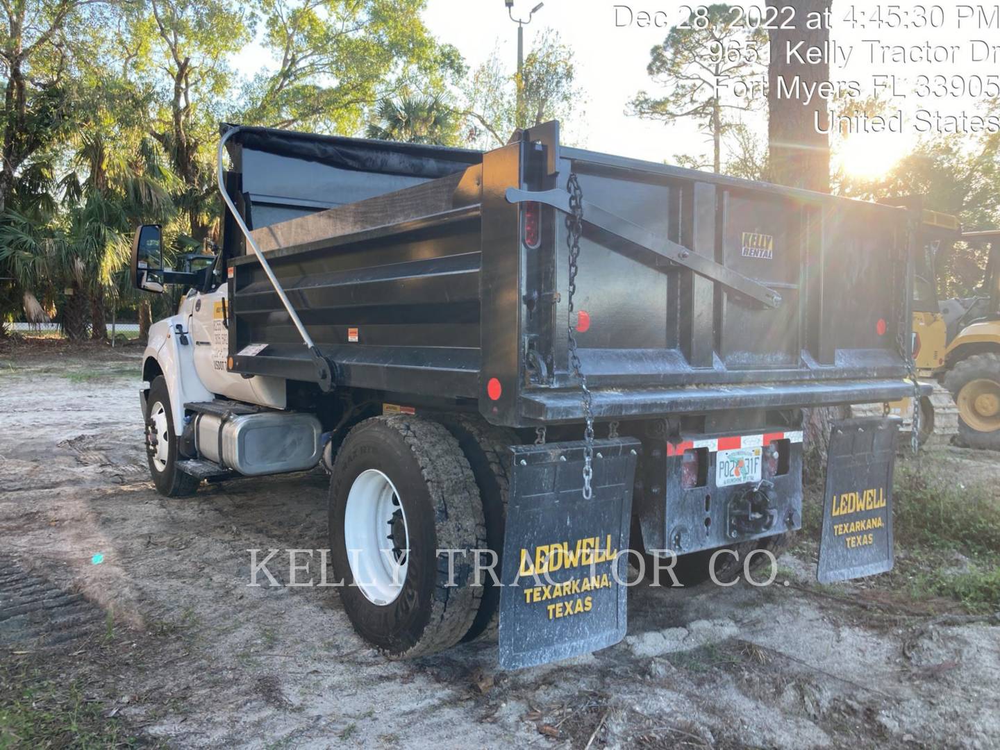
[[[767,588],[631,589],[628,636],[591,656],[385,661],[335,589],[247,585],[248,549],[326,546],[322,473],[154,492],[139,356],[0,351],[0,666],[79,680],[139,744],[1000,746],[1000,629],[817,587],[808,545]],[[964,460],[1000,479],[995,455]],[[49,620],[3,614],[25,577]]]

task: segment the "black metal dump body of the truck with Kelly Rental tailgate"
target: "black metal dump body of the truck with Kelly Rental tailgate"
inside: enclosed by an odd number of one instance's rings
[[[912,393],[897,341],[919,223],[902,209],[566,148],[555,123],[485,153],[261,128],[228,145],[229,192],[337,388],[515,427],[580,421],[566,216],[506,194],[564,191],[572,173],[592,207],[574,302],[598,420]],[[316,381],[229,218],[223,240],[231,369]]]

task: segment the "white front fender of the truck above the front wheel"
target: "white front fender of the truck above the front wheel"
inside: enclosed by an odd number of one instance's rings
[[[182,326],[186,344],[181,343],[181,337],[175,333],[176,325]],[[152,367],[151,361],[155,362],[156,368]],[[175,315],[150,326],[149,343],[143,354],[143,376],[156,372],[157,368],[167,381],[174,431],[179,434],[184,429],[184,404],[191,401],[211,401],[214,398],[195,370],[194,342],[187,333],[186,316]],[[148,387],[144,385],[143,389]]]

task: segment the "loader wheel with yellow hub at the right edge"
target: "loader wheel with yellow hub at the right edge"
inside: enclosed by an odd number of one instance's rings
[[[945,376],[958,406],[958,442],[1000,450],[1000,354],[963,359]]]

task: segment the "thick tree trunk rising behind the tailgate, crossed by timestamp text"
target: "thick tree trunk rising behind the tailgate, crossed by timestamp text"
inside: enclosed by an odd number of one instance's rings
[[[795,0],[796,9],[792,29],[774,29],[769,32],[771,63],[767,70],[768,82],[768,143],[770,145],[771,179],[782,185],[830,192],[830,138],[826,134],[830,113],[826,100],[814,97],[806,104],[801,99],[779,98],[778,81],[785,82],[785,90],[792,89],[796,76],[803,84],[799,91],[812,88],[812,84],[830,79],[830,62],[824,59],[816,64],[789,59],[789,50],[799,42],[800,49],[816,47],[825,49],[830,41],[830,29],[807,29],[810,13],[829,12],[832,0]],[[770,7],[789,5],[788,0],[767,0]],[[822,132],[820,132],[822,131]]]

